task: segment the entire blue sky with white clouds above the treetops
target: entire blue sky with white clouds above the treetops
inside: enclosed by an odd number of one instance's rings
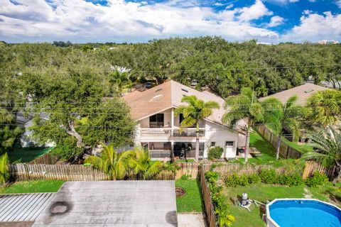
[[[341,0],[0,0],[0,40],[341,40]]]

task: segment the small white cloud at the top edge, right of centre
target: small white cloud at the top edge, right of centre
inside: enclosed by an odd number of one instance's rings
[[[239,19],[241,21],[251,21],[254,19],[261,18],[263,16],[270,16],[273,12],[269,11],[261,0],[256,0],[256,2],[249,6],[239,9]]]

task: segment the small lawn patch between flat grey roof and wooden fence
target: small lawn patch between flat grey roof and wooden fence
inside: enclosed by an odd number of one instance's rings
[[[175,181],[175,187],[182,187],[186,191],[184,196],[176,198],[178,213],[204,210],[199,182],[196,179],[178,179]]]

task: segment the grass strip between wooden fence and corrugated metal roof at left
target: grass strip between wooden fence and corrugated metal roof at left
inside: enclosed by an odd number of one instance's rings
[[[63,180],[31,180],[15,182],[9,187],[0,188],[0,194],[57,192],[62,187]]]

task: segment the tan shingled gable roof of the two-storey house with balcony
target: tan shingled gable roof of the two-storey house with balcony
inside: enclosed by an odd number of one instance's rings
[[[217,101],[220,104],[220,109],[214,109],[213,114],[207,120],[222,124],[224,99],[211,92],[199,92],[173,80],[169,80],[144,92],[131,92],[126,94],[123,99],[131,108],[132,118],[141,120],[166,109],[180,106],[183,96],[188,95],[195,95],[203,101]]]

